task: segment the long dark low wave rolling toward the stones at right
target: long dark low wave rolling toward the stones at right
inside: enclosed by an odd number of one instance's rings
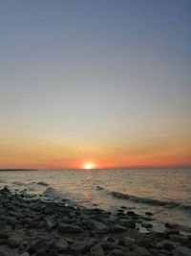
[[[191,211],[191,205],[182,205],[180,202],[176,202],[176,201],[162,201],[159,199],[153,199],[153,198],[140,198],[140,197],[136,197],[136,196],[132,196],[132,195],[128,195],[128,194],[123,194],[120,192],[116,192],[116,191],[108,191],[100,186],[96,187],[96,190],[104,190],[108,195],[114,197],[114,198],[118,198],[118,199],[128,199],[137,203],[145,203],[145,204],[150,204],[150,205],[156,205],[156,206],[163,206],[163,207],[167,207],[170,209],[173,208],[178,208],[178,209],[182,209],[182,210],[187,210],[187,211]]]

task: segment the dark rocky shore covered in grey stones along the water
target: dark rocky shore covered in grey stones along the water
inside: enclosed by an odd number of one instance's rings
[[[43,201],[0,189],[0,256],[191,255],[191,236],[165,223],[156,232],[150,212],[138,216],[125,207],[117,213]],[[146,228],[141,233],[138,226]]]

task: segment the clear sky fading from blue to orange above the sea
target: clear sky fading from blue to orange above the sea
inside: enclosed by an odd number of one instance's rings
[[[189,0],[0,1],[0,168],[191,166]]]

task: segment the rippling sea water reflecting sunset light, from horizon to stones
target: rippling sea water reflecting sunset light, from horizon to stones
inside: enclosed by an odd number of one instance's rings
[[[59,170],[0,172],[0,187],[42,199],[63,198],[116,211],[125,206],[154,213],[154,227],[176,223],[191,230],[191,169]]]

